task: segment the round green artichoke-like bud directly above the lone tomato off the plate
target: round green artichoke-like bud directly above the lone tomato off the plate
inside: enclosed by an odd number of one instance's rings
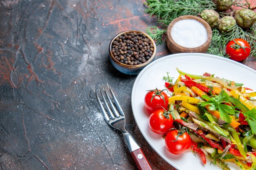
[[[220,32],[229,32],[234,24],[236,24],[234,17],[225,16],[218,21],[218,29]]]

